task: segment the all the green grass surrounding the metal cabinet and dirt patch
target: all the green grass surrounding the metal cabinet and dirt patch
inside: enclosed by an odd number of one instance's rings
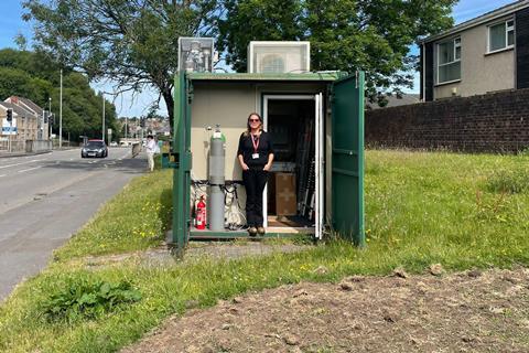
[[[168,315],[183,313],[190,303],[208,307],[248,290],[301,280],[385,275],[398,266],[420,272],[434,263],[449,270],[528,265],[529,192],[490,186],[497,180],[518,185],[518,179],[512,182],[498,175],[528,175],[527,165],[526,154],[368,151],[365,249],[331,242],[300,254],[231,261],[204,258],[148,267],[132,257],[108,266],[87,266],[86,255],[141,250],[159,244],[169,224],[170,174],[142,176],[56,253],[58,261],[20,286],[0,307],[0,351],[112,352],[137,341]],[[142,210],[153,200],[159,206]],[[129,207],[123,203],[131,204],[127,214],[123,210]],[[133,232],[143,224],[141,229],[149,236]],[[116,228],[127,231],[116,234]],[[320,266],[327,271],[314,271]],[[50,297],[73,282],[123,280],[140,291],[140,301],[71,324],[48,322],[43,315]]]

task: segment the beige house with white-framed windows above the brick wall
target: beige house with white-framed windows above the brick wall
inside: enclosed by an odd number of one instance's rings
[[[529,88],[529,0],[424,39],[421,99]]]

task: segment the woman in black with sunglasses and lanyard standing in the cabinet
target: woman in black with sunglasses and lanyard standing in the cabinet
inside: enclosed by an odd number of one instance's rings
[[[248,117],[247,130],[239,139],[237,159],[242,168],[242,182],[246,188],[248,232],[250,236],[258,233],[262,235],[262,192],[273,162],[273,146],[270,133],[262,130],[262,119],[257,113]]]

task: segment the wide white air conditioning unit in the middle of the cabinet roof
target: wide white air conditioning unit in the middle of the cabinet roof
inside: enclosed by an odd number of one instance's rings
[[[311,71],[310,42],[250,42],[248,73],[306,73]]]

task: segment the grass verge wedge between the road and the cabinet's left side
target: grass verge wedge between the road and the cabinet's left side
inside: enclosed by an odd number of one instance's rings
[[[172,181],[171,170],[136,178],[68,244],[56,250],[55,258],[64,261],[159,245],[171,224]]]

